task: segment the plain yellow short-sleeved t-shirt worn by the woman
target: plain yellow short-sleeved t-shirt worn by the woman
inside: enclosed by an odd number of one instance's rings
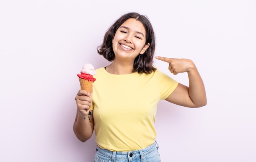
[[[92,107],[96,142],[110,151],[132,151],[155,142],[157,103],[178,82],[156,70],[151,74],[116,75],[95,70]]]

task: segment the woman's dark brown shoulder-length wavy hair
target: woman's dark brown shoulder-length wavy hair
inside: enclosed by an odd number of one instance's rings
[[[153,57],[155,54],[155,33],[153,31],[153,27],[148,20],[146,15],[140,15],[139,13],[127,13],[122,15],[105,33],[103,43],[101,46],[97,47],[97,51],[99,55],[103,55],[108,61],[113,61],[115,58],[115,54],[112,48],[112,39],[117,32],[117,29],[129,18],[135,18],[136,20],[140,21],[146,31],[146,44],[150,44],[148,49],[145,51],[143,55],[138,55],[133,63],[132,72],[139,72],[139,73],[151,73],[155,71],[156,68],[153,66]]]

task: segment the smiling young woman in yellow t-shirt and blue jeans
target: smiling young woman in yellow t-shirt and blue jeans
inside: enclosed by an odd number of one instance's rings
[[[121,16],[98,47],[110,65],[95,70],[92,98],[79,90],[74,133],[82,142],[96,134],[94,162],[160,162],[154,128],[157,103],[164,99],[186,107],[207,104],[200,74],[189,59],[157,56],[173,74],[187,72],[189,87],[153,66],[155,35],[148,18]]]

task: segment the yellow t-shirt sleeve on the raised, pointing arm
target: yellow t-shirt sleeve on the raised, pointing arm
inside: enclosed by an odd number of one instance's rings
[[[175,81],[173,78],[158,69],[155,71],[155,74],[157,76],[157,85],[160,97],[165,100],[175,90],[175,88],[177,88],[179,82]]]

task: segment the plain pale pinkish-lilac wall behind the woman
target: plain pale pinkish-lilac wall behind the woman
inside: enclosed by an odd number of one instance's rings
[[[76,139],[76,74],[107,66],[96,47],[119,16],[148,15],[156,55],[197,65],[208,104],[161,101],[163,162],[255,162],[256,2],[253,0],[6,0],[0,2],[0,161],[91,162],[94,136]],[[187,74],[174,76],[188,85]],[[136,133],[136,132],[135,132]]]

